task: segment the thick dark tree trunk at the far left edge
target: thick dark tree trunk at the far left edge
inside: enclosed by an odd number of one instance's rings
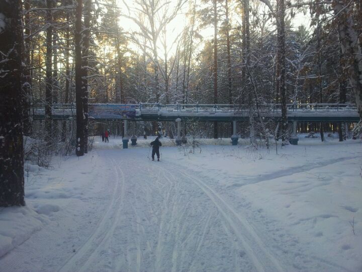
[[[22,1],[0,0],[0,207],[25,206]],[[6,41],[6,42],[4,42]]]

